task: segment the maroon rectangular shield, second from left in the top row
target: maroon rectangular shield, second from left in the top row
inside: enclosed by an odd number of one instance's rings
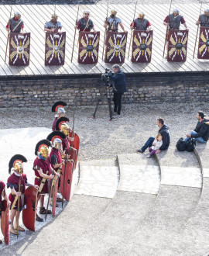
[[[62,66],[65,58],[66,33],[46,32],[45,65]]]

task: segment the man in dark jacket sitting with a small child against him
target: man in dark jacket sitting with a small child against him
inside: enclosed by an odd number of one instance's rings
[[[169,128],[164,124],[163,118],[159,117],[156,119],[156,125],[159,126],[159,131],[163,137],[163,144],[161,147],[159,147],[158,150],[156,150],[156,153],[159,153],[161,150],[166,150],[168,149],[170,145],[170,133],[169,133]],[[137,153],[144,153],[144,151],[147,149],[147,147],[152,147],[152,143],[155,140],[154,137],[149,137],[149,139],[146,141],[146,144],[144,144],[143,147],[139,150],[135,150]],[[155,145],[154,145],[155,146]]]

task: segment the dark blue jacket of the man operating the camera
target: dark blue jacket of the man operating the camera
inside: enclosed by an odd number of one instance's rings
[[[113,93],[124,93],[127,92],[125,86],[125,74],[122,71],[118,71],[115,74],[111,74],[111,79],[114,81]]]

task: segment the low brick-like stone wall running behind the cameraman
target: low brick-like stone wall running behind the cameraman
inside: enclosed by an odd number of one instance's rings
[[[209,100],[209,75],[127,74],[125,103]],[[105,88],[99,75],[49,78],[1,78],[0,107],[48,106],[55,100],[69,105],[94,104]]]

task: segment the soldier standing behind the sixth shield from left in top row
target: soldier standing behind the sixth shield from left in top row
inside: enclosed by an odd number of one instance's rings
[[[188,31],[189,29],[187,28],[187,24],[183,16],[180,16],[180,11],[178,9],[174,9],[173,13],[171,13],[169,16],[166,16],[166,19],[164,19],[163,24],[165,26],[168,26],[168,31],[166,35],[166,43],[169,40],[169,30],[179,30],[180,29],[180,24],[183,24],[185,26],[186,30]],[[168,43],[166,45],[167,50],[168,50]],[[167,56],[165,57],[167,58]]]

